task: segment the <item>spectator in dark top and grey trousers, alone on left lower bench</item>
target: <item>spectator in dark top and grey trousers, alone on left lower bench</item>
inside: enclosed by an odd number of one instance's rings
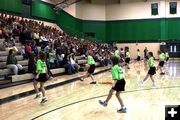
[[[7,57],[7,68],[13,70],[15,75],[18,75],[18,72],[23,71],[22,65],[18,64],[18,61],[15,57],[15,52],[13,49],[9,50],[9,55]]]

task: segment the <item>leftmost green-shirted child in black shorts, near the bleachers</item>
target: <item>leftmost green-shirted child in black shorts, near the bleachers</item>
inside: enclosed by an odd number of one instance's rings
[[[43,52],[39,53],[39,59],[37,60],[36,63],[36,77],[35,77],[35,81],[34,81],[34,88],[36,91],[36,97],[35,98],[39,98],[41,95],[39,93],[39,89],[37,84],[40,83],[40,89],[42,92],[42,100],[41,103],[45,103],[47,102],[47,98],[45,95],[45,89],[44,89],[44,83],[47,81],[47,66],[46,66],[46,54]]]

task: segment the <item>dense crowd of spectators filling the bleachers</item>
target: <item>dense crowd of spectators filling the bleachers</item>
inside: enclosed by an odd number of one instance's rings
[[[95,61],[102,66],[111,64],[112,46],[109,44],[77,39],[56,28],[45,26],[43,22],[0,14],[0,38],[5,38],[3,48],[17,52],[16,37],[19,37],[19,42],[23,45],[19,52],[23,59],[29,60],[28,70],[31,73],[35,72],[34,66],[40,51],[47,55],[48,69],[64,67],[66,74],[79,71],[80,66],[75,56],[86,56],[88,50],[93,50]],[[17,60],[13,64],[17,64]]]

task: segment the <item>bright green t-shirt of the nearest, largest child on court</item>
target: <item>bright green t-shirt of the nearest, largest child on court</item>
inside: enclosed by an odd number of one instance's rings
[[[122,68],[118,65],[114,65],[112,67],[112,79],[113,80],[121,80],[124,79],[124,73]]]

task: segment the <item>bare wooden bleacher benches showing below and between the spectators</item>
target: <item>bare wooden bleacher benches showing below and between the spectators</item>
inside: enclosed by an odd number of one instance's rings
[[[0,39],[0,44],[4,39]],[[16,47],[18,50],[21,49],[22,45],[19,43],[19,40],[16,40]],[[27,80],[32,80],[34,78],[33,74],[27,73],[28,72],[28,60],[23,60],[23,57],[19,54],[16,55],[16,58],[18,60],[18,63],[21,64],[25,70],[25,74],[22,75],[13,75],[13,72],[7,68],[6,66],[6,59],[8,56],[8,51],[5,50],[0,50],[0,85],[1,84],[9,84],[9,83],[14,83],[14,82],[23,82]],[[77,60],[77,63],[83,67],[84,64],[87,63],[87,60],[85,59],[85,56],[76,56],[75,59]],[[99,66],[100,63],[96,63],[96,66]],[[56,69],[51,69],[51,72],[53,75],[58,75],[58,74],[63,74],[65,72],[65,68],[56,68]],[[24,83],[24,82],[23,82]]]

